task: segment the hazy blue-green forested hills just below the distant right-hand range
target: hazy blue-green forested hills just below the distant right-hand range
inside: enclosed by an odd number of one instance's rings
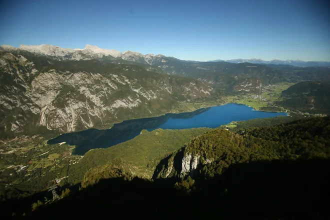
[[[166,62],[162,62],[165,60]],[[263,65],[256,63],[230,62],[189,62],[174,57],[162,57],[151,63],[161,66],[165,72],[212,81],[216,87],[232,90],[237,84],[251,79],[257,79],[263,84],[278,82],[298,82],[299,80],[329,80],[327,67],[296,67],[291,65]],[[259,92],[258,89],[252,89]]]

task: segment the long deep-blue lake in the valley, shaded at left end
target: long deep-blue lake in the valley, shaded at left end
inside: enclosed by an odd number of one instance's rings
[[[243,104],[225,104],[215,107],[201,108],[192,112],[168,113],[158,117],[125,120],[114,124],[110,129],[88,129],[72,133],[64,133],[48,140],[48,144],[66,142],[75,145],[73,154],[83,155],[93,148],[106,148],[137,136],[141,130],[185,129],[193,127],[215,128],[231,121],[248,120],[287,115],[284,112],[257,111]]]

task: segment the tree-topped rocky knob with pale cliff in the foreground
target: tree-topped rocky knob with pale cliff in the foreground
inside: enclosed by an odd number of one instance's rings
[[[206,174],[207,170],[217,169],[216,164],[226,164],[228,158],[235,156],[235,151],[241,151],[242,146],[242,136],[224,129],[214,129],[173,152],[157,177],[195,177],[200,173]]]

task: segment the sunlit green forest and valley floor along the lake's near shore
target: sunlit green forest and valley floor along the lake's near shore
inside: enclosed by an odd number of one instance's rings
[[[129,141],[93,149],[83,157],[71,154],[73,146],[46,144],[47,140],[41,136],[8,140],[0,145],[0,200],[45,190],[56,183],[56,178],[62,178],[58,183],[61,186],[81,182],[85,172],[98,165],[114,163],[130,168],[134,175],[150,178],[162,157],[208,130],[211,128],[143,130]]]

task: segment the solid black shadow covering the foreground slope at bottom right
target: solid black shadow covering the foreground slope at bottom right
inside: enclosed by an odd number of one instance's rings
[[[143,217],[326,219],[330,217],[330,160],[232,164],[221,175],[196,179],[185,190],[174,179],[101,179],[27,213],[32,219]],[[175,179],[176,180],[176,179]],[[19,200],[17,202],[20,202]],[[24,202],[24,200],[21,200]],[[31,205],[31,204],[26,204]]]

